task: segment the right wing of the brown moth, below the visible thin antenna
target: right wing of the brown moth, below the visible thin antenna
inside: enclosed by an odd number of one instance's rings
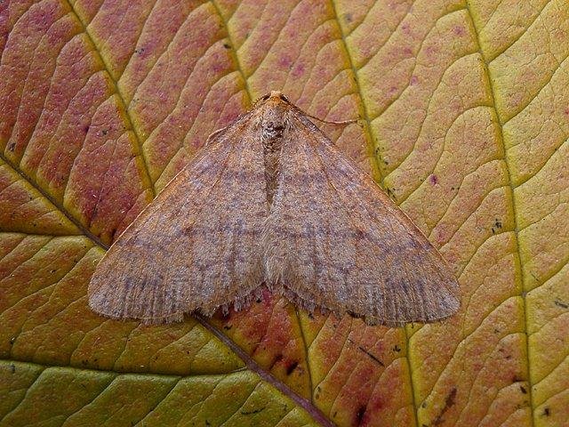
[[[369,324],[431,322],[459,309],[441,254],[373,179],[305,117],[293,119],[265,230],[268,283],[313,309]]]

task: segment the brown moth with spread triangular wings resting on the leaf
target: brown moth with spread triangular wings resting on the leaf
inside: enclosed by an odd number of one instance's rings
[[[437,249],[282,93],[205,145],[101,260],[92,310],[159,324],[239,310],[266,288],[370,325],[459,309]]]

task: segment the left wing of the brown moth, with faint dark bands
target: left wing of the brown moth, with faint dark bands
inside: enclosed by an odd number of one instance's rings
[[[259,143],[247,122],[212,135],[103,257],[89,285],[92,310],[145,323],[210,314],[262,282],[267,215]]]

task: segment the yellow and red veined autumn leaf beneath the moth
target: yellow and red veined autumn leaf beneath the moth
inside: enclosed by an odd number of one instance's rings
[[[0,425],[569,418],[566,2],[12,0],[0,35]],[[112,240],[271,89],[363,119],[323,127],[452,263],[457,317],[88,310]]]

